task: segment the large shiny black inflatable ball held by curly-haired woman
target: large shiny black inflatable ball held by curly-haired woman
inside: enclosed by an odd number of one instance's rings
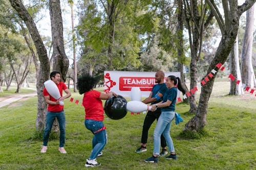
[[[123,98],[123,96],[112,96],[110,99],[106,100],[104,111],[109,118],[118,120],[126,115],[126,104],[127,101]]]

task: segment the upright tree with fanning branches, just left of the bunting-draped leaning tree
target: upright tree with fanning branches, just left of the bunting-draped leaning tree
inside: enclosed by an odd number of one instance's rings
[[[214,17],[213,13],[209,11],[207,4],[198,5],[197,0],[184,0],[186,28],[188,30],[189,44],[190,44],[190,89],[197,87],[197,62],[201,57],[203,35],[210,21]],[[197,111],[196,94],[189,96],[190,113]]]

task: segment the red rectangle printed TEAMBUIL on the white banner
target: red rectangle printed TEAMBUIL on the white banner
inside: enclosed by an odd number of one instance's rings
[[[132,87],[140,87],[141,91],[151,91],[155,85],[154,77],[120,77],[119,90],[131,91]]]

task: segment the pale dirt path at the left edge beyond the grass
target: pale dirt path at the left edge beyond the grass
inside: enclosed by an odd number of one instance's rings
[[[20,100],[23,100],[23,101],[27,100],[30,97],[35,96],[35,95],[37,95],[36,92],[27,93],[27,94],[13,94],[13,95],[2,97],[2,98],[0,98],[0,108],[4,107],[6,105],[10,105],[10,104],[13,106],[18,106],[18,105],[12,104],[12,103],[16,102],[16,101],[20,101]]]

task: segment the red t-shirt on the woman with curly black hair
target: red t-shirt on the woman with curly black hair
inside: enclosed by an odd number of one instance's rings
[[[104,110],[102,106],[102,101],[99,99],[100,93],[101,92],[96,90],[91,90],[84,93],[82,105],[84,106],[84,110],[86,111],[85,119],[103,121]]]

